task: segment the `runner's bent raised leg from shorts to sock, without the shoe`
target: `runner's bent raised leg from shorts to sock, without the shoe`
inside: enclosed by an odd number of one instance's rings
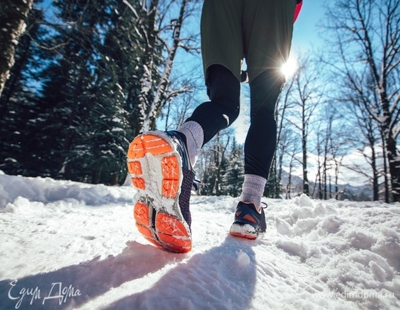
[[[204,144],[239,115],[243,59],[242,0],[205,0],[201,12],[201,55],[210,101],[194,110],[178,131],[185,134],[192,164]]]

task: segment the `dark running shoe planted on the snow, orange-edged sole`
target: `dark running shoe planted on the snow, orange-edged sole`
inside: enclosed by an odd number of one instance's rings
[[[254,204],[240,201],[234,212],[234,223],[230,227],[229,233],[232,236],[255,239],[260,232],[264,232],[266,229],[264,209],[261,208],[261,213],[259,213]]]

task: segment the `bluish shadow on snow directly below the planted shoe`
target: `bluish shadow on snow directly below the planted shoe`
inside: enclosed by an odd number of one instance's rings
[[[228,236],[174,267],[152,288],[106,309],[249,309],[257,280],[253,242]]]

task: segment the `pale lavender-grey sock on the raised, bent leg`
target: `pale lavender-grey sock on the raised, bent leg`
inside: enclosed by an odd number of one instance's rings
[[[190,163],[192,163],[192,167],[194,167],[197,156],[199,156],[200,149],[203,146],[203,128],[195,121],[188,121],[183,123],[177,131],[186,136],[186,146],[188,147]]]

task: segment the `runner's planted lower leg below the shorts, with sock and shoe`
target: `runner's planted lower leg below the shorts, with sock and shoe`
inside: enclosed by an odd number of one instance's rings
[[[267,70],[250,81],[250,128],[245,141],[245,176],[240,202],[235,211],[230,234],[257,238],[266,230],[261,197],[268,179],[277,143],[274,108],[283,79]]]

